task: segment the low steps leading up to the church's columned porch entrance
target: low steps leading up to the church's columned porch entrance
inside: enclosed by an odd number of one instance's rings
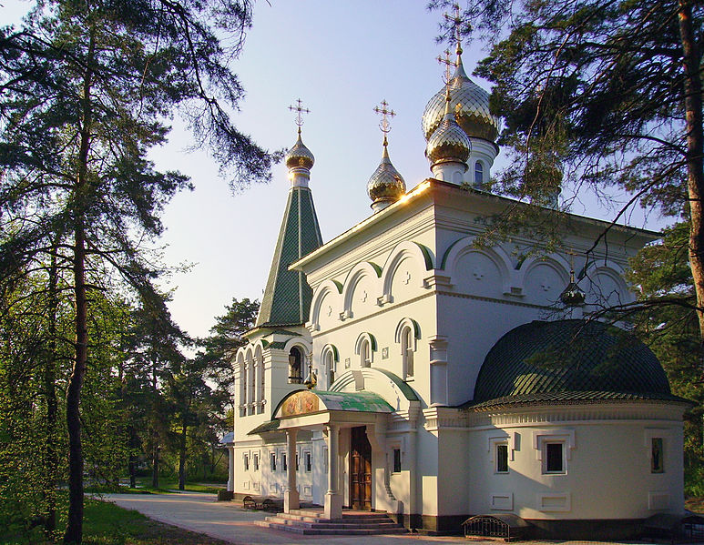
[[[273,530],[285,530],[304,535],[399,534],[408,530],[389,519],[386,513],[369,511],[342,511],[342,519],[325,519],[322,510],[291,510],[265,520],[254,522]]]

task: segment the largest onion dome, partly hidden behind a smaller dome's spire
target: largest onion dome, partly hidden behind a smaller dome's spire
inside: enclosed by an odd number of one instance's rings
[[[425,106],[422,120],[425,140],[429,140],[443,122],[444,95],[444,89],[441,89]],[[450,80],[450,107],[467,136],[495,142],[499,132],[499,119],[489,111],[489,94],[469,79],[462,66],[462,56],[459,55],[457,68]]]

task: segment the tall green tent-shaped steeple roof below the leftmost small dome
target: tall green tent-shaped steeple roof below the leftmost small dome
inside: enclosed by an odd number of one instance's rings
[[[294,326],[308,320],[312,290],[303,273],[289,270],[289,265],[321,245],[311,190],[291,187],[255,328]]]

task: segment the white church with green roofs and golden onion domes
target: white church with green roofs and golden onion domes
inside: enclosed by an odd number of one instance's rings
[[[301,129],[260,315],[236,369],[229,489],[386,511],[457,531],[513,514],[536,536],[625,537],[683,510],[682,413],[653,353],[590,319],[633,300],[657,234],[568,215],[563,248],[475,244],[506,207],[488,94],[456,71],[423,113],[432,177],[406,190],[383,143],[372,213],[323,243]],[[385,106],[384,106],[385,107]],[[574,270],[582,271],[575,278]]]

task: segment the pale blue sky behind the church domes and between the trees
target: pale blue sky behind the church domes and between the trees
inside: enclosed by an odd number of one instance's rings
[[[0,20],[10,22],[30,5],[0,0]],[[389,135],[393,165],[414,187],[430,176],[423,156],[421,116],[442,86],[435,61],[442,15],[424,0],[260,0],[244,50],[234,62],[247,91],[235,122],[269,149],[292,146],[301,97],[311,109],[303,141],[315,156],[311,189],[323,240],[369,216],[366,183],[379,164],[382,134],[372,111],[386,99],[396,111]],[[481,44],[464,47],[464,66],[474,69]],[[479,82],[486,86],[485,82]],[[233,195],[205,153],[189,153],[188,133],[174,126],[168,146],[155,151],[158,167],[178,169],[196,189],[168,206],[163,239],[169,265],[192,263],[169,279],[176,288],[173,318],[191,335],[205,336],[233,297],[261,298],[279,230],[289,182],[286,168],[273,170],[265,186]],[[500,167],[502,156],[497,159]],[[586,198],[584,202],[593,203]],[[610,211],[576,204],[577,214],[610,218]],[[642,219],[633,220],[644,227]],[[658,228],[659,223],[647,227]]]

